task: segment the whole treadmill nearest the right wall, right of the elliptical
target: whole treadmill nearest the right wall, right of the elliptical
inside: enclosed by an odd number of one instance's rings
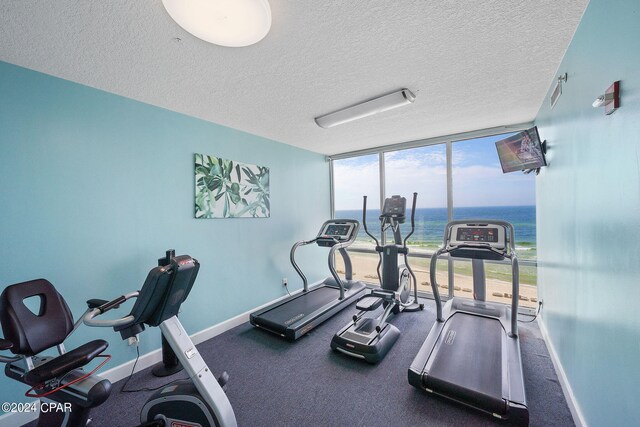
[[[436,261],[443,254],[471,259],[474,298],[442,307]],[[511,307],[485,301],[484,260],[511,261]],[[436,323],[409,368],[409,384],[516,425],[529,424],[518,340],[518,259],[513,226],[505,221],[447,224],[444,246],[431,257]]]

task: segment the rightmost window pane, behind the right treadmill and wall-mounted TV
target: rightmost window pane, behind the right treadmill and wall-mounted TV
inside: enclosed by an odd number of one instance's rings
[[[457,141],[452,144],[453,219],[500,219],[516,233],[520,260],[520,304],[535,307],[536,207],[535,174],[502,173],[495,142],[508,135]],[[471,261],[454,264],[455,291],[470,294]],[[511,264],[485,262],[486,298],[511,301]]]

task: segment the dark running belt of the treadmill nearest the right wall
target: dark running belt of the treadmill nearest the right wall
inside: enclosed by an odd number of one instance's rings
[[[499,320],[455,313],[442,330],[423,382],[436,393],[503,414],[502,335]]]

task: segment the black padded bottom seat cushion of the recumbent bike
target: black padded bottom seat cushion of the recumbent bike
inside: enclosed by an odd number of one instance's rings
[[[108,346],[109,343],[105,340],[90,341],[30,370],[22,380],[30,386],[44,384],[53,378],[61,377],[67,372],[87,365]]]

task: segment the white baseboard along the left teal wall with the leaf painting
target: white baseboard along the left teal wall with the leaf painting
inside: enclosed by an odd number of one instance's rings
[[[299,292],[302,292],[302,290],[300,289],[300,290],[294,291],[291,293],[291,295],[297,294]],[[288,295],[285,295],[280,298],[276,298],[271,302],[263,304],[252,310],[246,311],[242,314],[232,317],[231,319],[225,320],[224,322],[218,323],[209,328],[196,332],[195,334],[191,335],[191,340],[196,345],[202,342],[205,342],[217,335],[222,334],[223,332],[226,332],[232,328],[235,328],[236,326],[240,326],[243,323],[248,322],[249,315],[254,311],[260,310],[264,307],[267,307],[271,304],[274,304],[288,297],[289,297]],[[140,358],[138,359],[138,363],[136,364],[135,372],[139,372],[146,368],[149,368],[155,365],[156,363],[160,362],[161,360],[162,360],[162,349],[158,348],[156,350],[152,350],[149,353],[146,353],[140,356]],[[129,360],[128,362],[125,362],[119,366],[109,369],[108,371],[104,371],[100,373],[100,376],[102,378],[108,379],[112,383],[120,381],[124,378],[127,378],[129,375],[131,375],[131,369],[133,368],[134,363],[135,363],[135,359]],[[23,413],[11,412],[11,413],[4,414],[0,416],[0,427],[15,427],[15,426],[21,426],[21,425],[30,423],[31,421],[35,421],[38,418],[38,414],[39,412],[23,412]]]

